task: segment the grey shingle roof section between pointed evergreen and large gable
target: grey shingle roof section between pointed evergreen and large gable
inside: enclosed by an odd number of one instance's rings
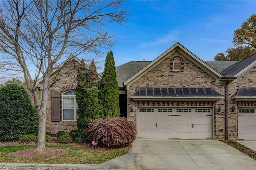
[[[139,72],[142,68],[148,65],[150,61],[130,61],[116,67],[116,76],[119,87],[124,87],[123,82],[128,80],[134,74]]]

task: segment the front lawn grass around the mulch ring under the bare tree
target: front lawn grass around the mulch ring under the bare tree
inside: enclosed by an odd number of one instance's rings
[[[16,152],[19,150],[36,148],[36,145],[1,146],[0,162],[45,164],[101,164],[129,152],[129,148],[119,148],[113,150],[96,150],[62,144],[48,144],[46,145],[46,147],[63,149],[66,150],[68,153],[62,156],[54,157],[21,158],[17,156],[10,156],[9,154],[11,152]]]

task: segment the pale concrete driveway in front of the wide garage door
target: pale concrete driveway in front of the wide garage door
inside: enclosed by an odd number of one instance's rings
[[[255,170],[256,161],[220,141],[136,140],[129,154],[106,168],[168,170]]]

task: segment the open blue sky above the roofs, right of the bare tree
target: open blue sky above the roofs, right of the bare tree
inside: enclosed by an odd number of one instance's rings
[[[234,47],[234,30],[256,13],[256,1],[127,1],[129,20],[110,24],[116,66],[152,61],[176,42],[202,60]]]

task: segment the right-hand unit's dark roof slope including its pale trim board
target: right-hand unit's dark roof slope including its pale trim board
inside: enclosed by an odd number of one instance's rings
[[[253,66],[256,66],[256,54],[224,69],[221,74],[223,74],[224,76],[232,75],[234,77],[238,77],[244,72],[248,71]]]

